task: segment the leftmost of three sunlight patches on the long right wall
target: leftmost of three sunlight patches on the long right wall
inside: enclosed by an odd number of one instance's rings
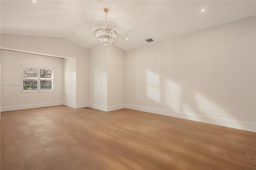
[[[161,96],[160,96],[160,81],[159,75],[147,70],[146,71],[146,81],[147,81],[147,96],[148,98],[152,99],[155,102],[160,103]]]

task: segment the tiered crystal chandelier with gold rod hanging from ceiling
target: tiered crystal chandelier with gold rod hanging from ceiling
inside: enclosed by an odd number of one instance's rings
[[[104,12],[106,14],[106,20],[94,23],[92,26],[92,32],[100,42],[100,45],[110,46],[118,37],[119,31],[116,24],[107,22],[107,8],[104,8]]]

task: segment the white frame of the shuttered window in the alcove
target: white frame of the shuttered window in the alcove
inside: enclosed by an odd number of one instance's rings
[[[37,77],[23,77],[23,68],[36,68],[38,69]],[[51,69],[52,70],[52,78],[41,78],[40,71],[41,69]],[[46,92],[46,91],[54,91],[54,68],[53,67],[40,67],[40,66],[32,66],[32,65],[21,65],[21,78],[22,78],[22,92]],[[24,80],[37,80],[37,89],[23,89]],[[52,80],[52,89],[40,89],[41,80]]]

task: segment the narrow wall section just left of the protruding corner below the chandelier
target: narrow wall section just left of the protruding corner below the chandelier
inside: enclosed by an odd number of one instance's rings
[[[88,106],[107,111],[107,47],[88,49]]]

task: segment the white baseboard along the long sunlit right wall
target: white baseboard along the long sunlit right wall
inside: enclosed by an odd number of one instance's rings
[[[176,111],[170,111],[170,110],[164,110],[164,109],[156,109],[152,107],[144,107],[144,106],[137,106],[137,105],[126,104],[125,108],[256,132],[256,124],[254,123],[240,122],[240,121],[234,121],[229,119],[221,119],[216,117],[176,112]]]

